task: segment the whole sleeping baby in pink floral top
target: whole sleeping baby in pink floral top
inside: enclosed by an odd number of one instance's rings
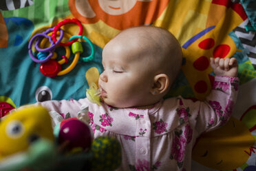
[[[36,103],[71,117],[87,108],[94,137],[116,138],[122,147],[118,170],[191,170],[191,152],[202,132],[231,117],[237,97],[235,58],[211,58],[215,81],[205,101],[163,99],[182,66],[182,50],[162,28],[120,32],[103,49],[100,103],[89,99]]]

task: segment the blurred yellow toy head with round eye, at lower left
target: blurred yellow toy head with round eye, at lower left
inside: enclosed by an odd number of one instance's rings
[[[27,150],[41,138],[54,140],[50,115],[45,108],[27,107],[12,112],[0,123],[0,159]]]

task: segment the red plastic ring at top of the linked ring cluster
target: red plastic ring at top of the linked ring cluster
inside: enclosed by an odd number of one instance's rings
[[[82,35],[83,34],[83,26],[81,24],[81,22],[78,20],[78,19],[65,19],[61,22],[59,22],[53,29],[52,31],[52,40],[54,42],[57,41],[56,39],[56,32],[57,30],[59,30],[61,28],[61,26],[65,25],[65,24],[68,24],[68,23],[76,23],[78,25],[78,27],[80,28],[79,32],[78,32],[78,35]],[[75,41],[77,41],[77,39],[74,39],[72,41],[69,41],[67,43],[60,43],[59,45],[60,46],[70,46],[72,43],[74,43]]]

